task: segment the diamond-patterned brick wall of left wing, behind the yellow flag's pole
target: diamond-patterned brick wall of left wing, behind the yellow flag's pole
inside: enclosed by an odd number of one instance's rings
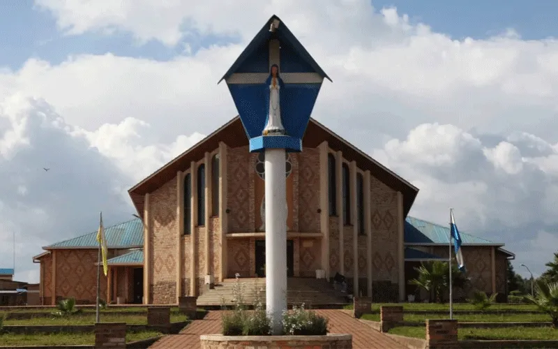
[[[97,298],[97,250],[56,251],[56,299],[74,297],[78,304]],[[107,299],[107,278],[100,277],[100,297]]]

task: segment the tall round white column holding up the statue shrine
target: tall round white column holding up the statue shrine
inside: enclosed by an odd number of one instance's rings
[[[287,185],[285,149],[265,150],[266,198],[266,307],[273,334],[282,330],[287,309]]]

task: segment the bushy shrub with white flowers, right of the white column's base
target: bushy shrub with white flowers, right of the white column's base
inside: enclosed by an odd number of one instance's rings
[[[327,334],[328,320],[313,311],[293,307],[292,312],[283,313],[283,332],[292,336],[324,336]]]

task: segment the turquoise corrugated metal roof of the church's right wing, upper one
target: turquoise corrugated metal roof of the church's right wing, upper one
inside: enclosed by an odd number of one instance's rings
[[[407,216],[405,219],[406,244],[449,244],[449,224],[447,226],[423,221],[422,219]],[[504,245],[491,242],[481,237],[475,237],[460,231],[462,244]]]

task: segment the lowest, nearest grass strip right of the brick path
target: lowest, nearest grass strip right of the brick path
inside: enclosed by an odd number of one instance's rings
[[[415,337],[425,339],[425,327],[395,327],[389,330],[391,334],[400,336]],[[459,329],[458,337],[460,340],[496,340],[496,339],[555,339],[558,340],[558,329],[551,327],[510,327]]]

